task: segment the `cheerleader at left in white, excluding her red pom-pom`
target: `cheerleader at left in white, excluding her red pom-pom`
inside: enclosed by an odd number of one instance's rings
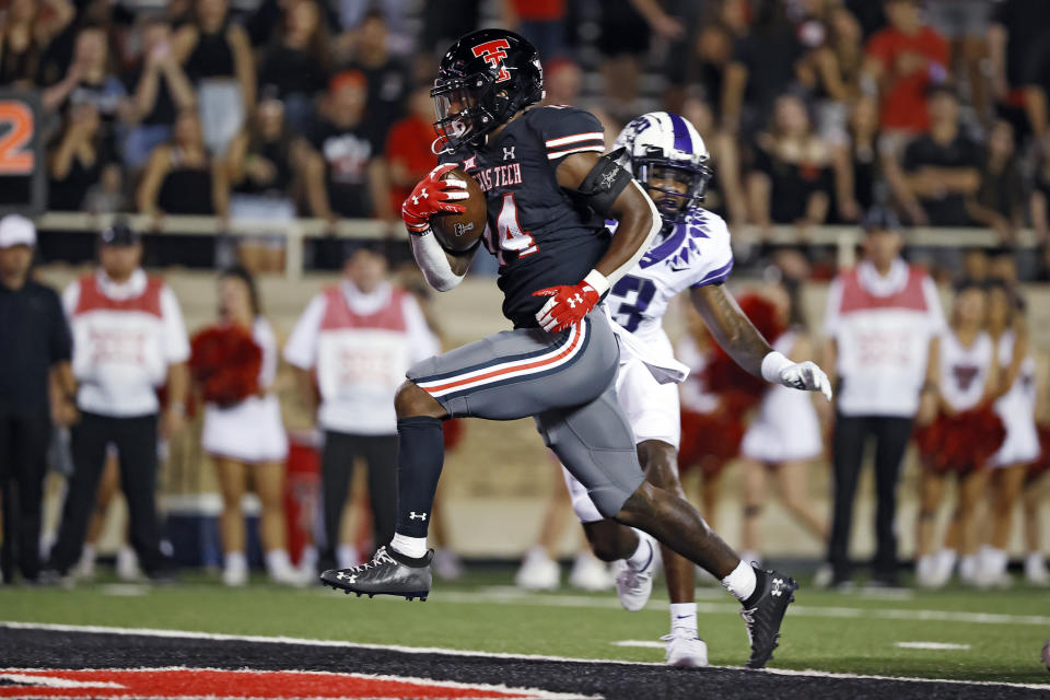
[[[220,407],[205,406],[201,444],[215,465],[222,490],[220,533],[225,552],[223,583],[244,585],[248,578],[245,525],[241,503],[253,482],[262,509],[259,535],[266,550],[266,569],[279,583],[298,584],[302,576],[292,567],[285,548],[284,457],[288,438],[281,407],[270,390],[277,374],[277,340],[259,308],[255,281],[244,268],[232,268],[219,280],[219,325],[250,331],[262,355],[258,394]]]

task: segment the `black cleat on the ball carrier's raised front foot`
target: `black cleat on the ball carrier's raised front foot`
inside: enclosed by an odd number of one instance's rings
[[[400,595],[406,599],[425,600],[430,595],[430,562],[434,550],[419,559],[411,559],[393,549],[380,547],[366,564],[350,569],[329,569],[320,574],[320,581],[348,595],[357,593],[374,595]]]

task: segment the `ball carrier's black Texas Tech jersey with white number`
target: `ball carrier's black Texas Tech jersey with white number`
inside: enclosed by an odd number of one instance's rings
[[[609,247],[610,234],[570,191],[558,185],[562,159],[603,152],[602,125],[575,107],[533,107],[508,124],[485,148],[442,156],[459,163],[488,197],[485,244],[500,261],[503,315],[515,328],[535,327],[546,298],[533,292],[575,284]]]

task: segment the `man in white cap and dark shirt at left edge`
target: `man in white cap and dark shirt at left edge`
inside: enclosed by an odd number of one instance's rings
[[[30,276],[36,229],[18,214],[0,219],[0,580],[40,573],[40,515],[51,416],[77,418],[72,340],[58,294]],[[51,387],[51,390],[49,390]]]

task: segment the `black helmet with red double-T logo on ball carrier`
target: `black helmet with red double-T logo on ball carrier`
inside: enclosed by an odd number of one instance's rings
[[[482,136],[544,98],[539,55],[506,30],[465,34],[441,59],[430,96],[440,149],[478,147]]]

